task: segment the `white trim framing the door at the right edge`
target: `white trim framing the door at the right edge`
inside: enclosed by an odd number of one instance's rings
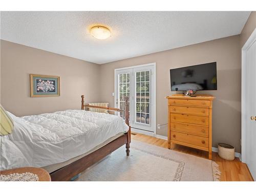
[[[246,159],[246,51],[250,48],[256,39],[256,28],[245,42],[242,48],[242,73],[241,73],[241,156],[242,162],[245,163]]]

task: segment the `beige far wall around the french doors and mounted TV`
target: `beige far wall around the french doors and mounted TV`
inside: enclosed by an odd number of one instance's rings
[[[241,111],[241,56],[240,36],[231,36],[186,46],[178,49],[119,60],[100,66],[101,100],[114,106],[114,69],[156,62],[157,124],[167,123],[167,100],[170,92],[169,69],[217,61],[217,91],[201,91],[216,97],[213,108],[212,144],[225,142],[240,152]],[[167,136],[167,126],[157,129]]]

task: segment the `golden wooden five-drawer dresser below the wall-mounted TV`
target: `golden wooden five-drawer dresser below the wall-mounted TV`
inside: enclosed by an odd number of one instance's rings
[[[209,152],[211,159],[211,95],[187,97],[180,94],[168,99],[168,148],[172,143]]]

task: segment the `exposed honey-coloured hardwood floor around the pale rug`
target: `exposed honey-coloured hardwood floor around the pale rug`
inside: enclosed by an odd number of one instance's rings
[[[148,144],[168,148],[167,141],[163,139],[158,139],[155,137],[137,133],[136,135],[132,134],[132,140],[133,139]],[[197,150],[195,148],[172,144],[172,150],[208,159],[207,152]],[[228,161],[220,158],[218,156],[218,153],[212,152],[212,160],[220,165],[220,170],[222,173],[220,179],[221,181],[253,181],[247,165],[245,163],[242,163],[239,158],[235,158],[233,161]]]

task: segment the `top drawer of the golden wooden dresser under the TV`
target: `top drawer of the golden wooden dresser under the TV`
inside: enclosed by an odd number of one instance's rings
[[[209,100],[196,99],[168,99],[168,104],[191,105],[191,106],[210,106]]]

